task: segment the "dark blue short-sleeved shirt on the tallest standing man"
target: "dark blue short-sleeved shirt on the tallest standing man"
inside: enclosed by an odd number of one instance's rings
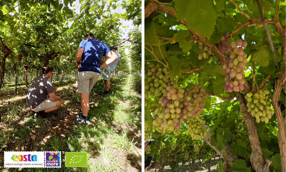
[[[102,56],[110,52],[108,46],[96,38],[89,38],[82,40],[79,48],[84,49],[79,72],[92,71],[100,73]]]

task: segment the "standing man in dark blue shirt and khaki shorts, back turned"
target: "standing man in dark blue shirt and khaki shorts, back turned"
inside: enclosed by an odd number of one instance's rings
[[[101,64],[102,56],[107,56],[106,62]],[[108,46],[94,38],[94,34],[86,34],[84,40],[80,42],[78,54],[76,54],[76,66],[80,66],[78,71],[78,92],[80,93],[81,109],[76,120],[89,124],[88,108],[89,93],[98,80],[100,69],[108,66],[118,57]]]

